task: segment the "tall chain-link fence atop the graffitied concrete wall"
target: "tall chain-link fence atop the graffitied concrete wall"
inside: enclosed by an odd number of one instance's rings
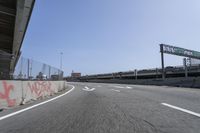
[[[15,67],[14,79],[61,80],[63,71],[50,65],[21,57]]]

